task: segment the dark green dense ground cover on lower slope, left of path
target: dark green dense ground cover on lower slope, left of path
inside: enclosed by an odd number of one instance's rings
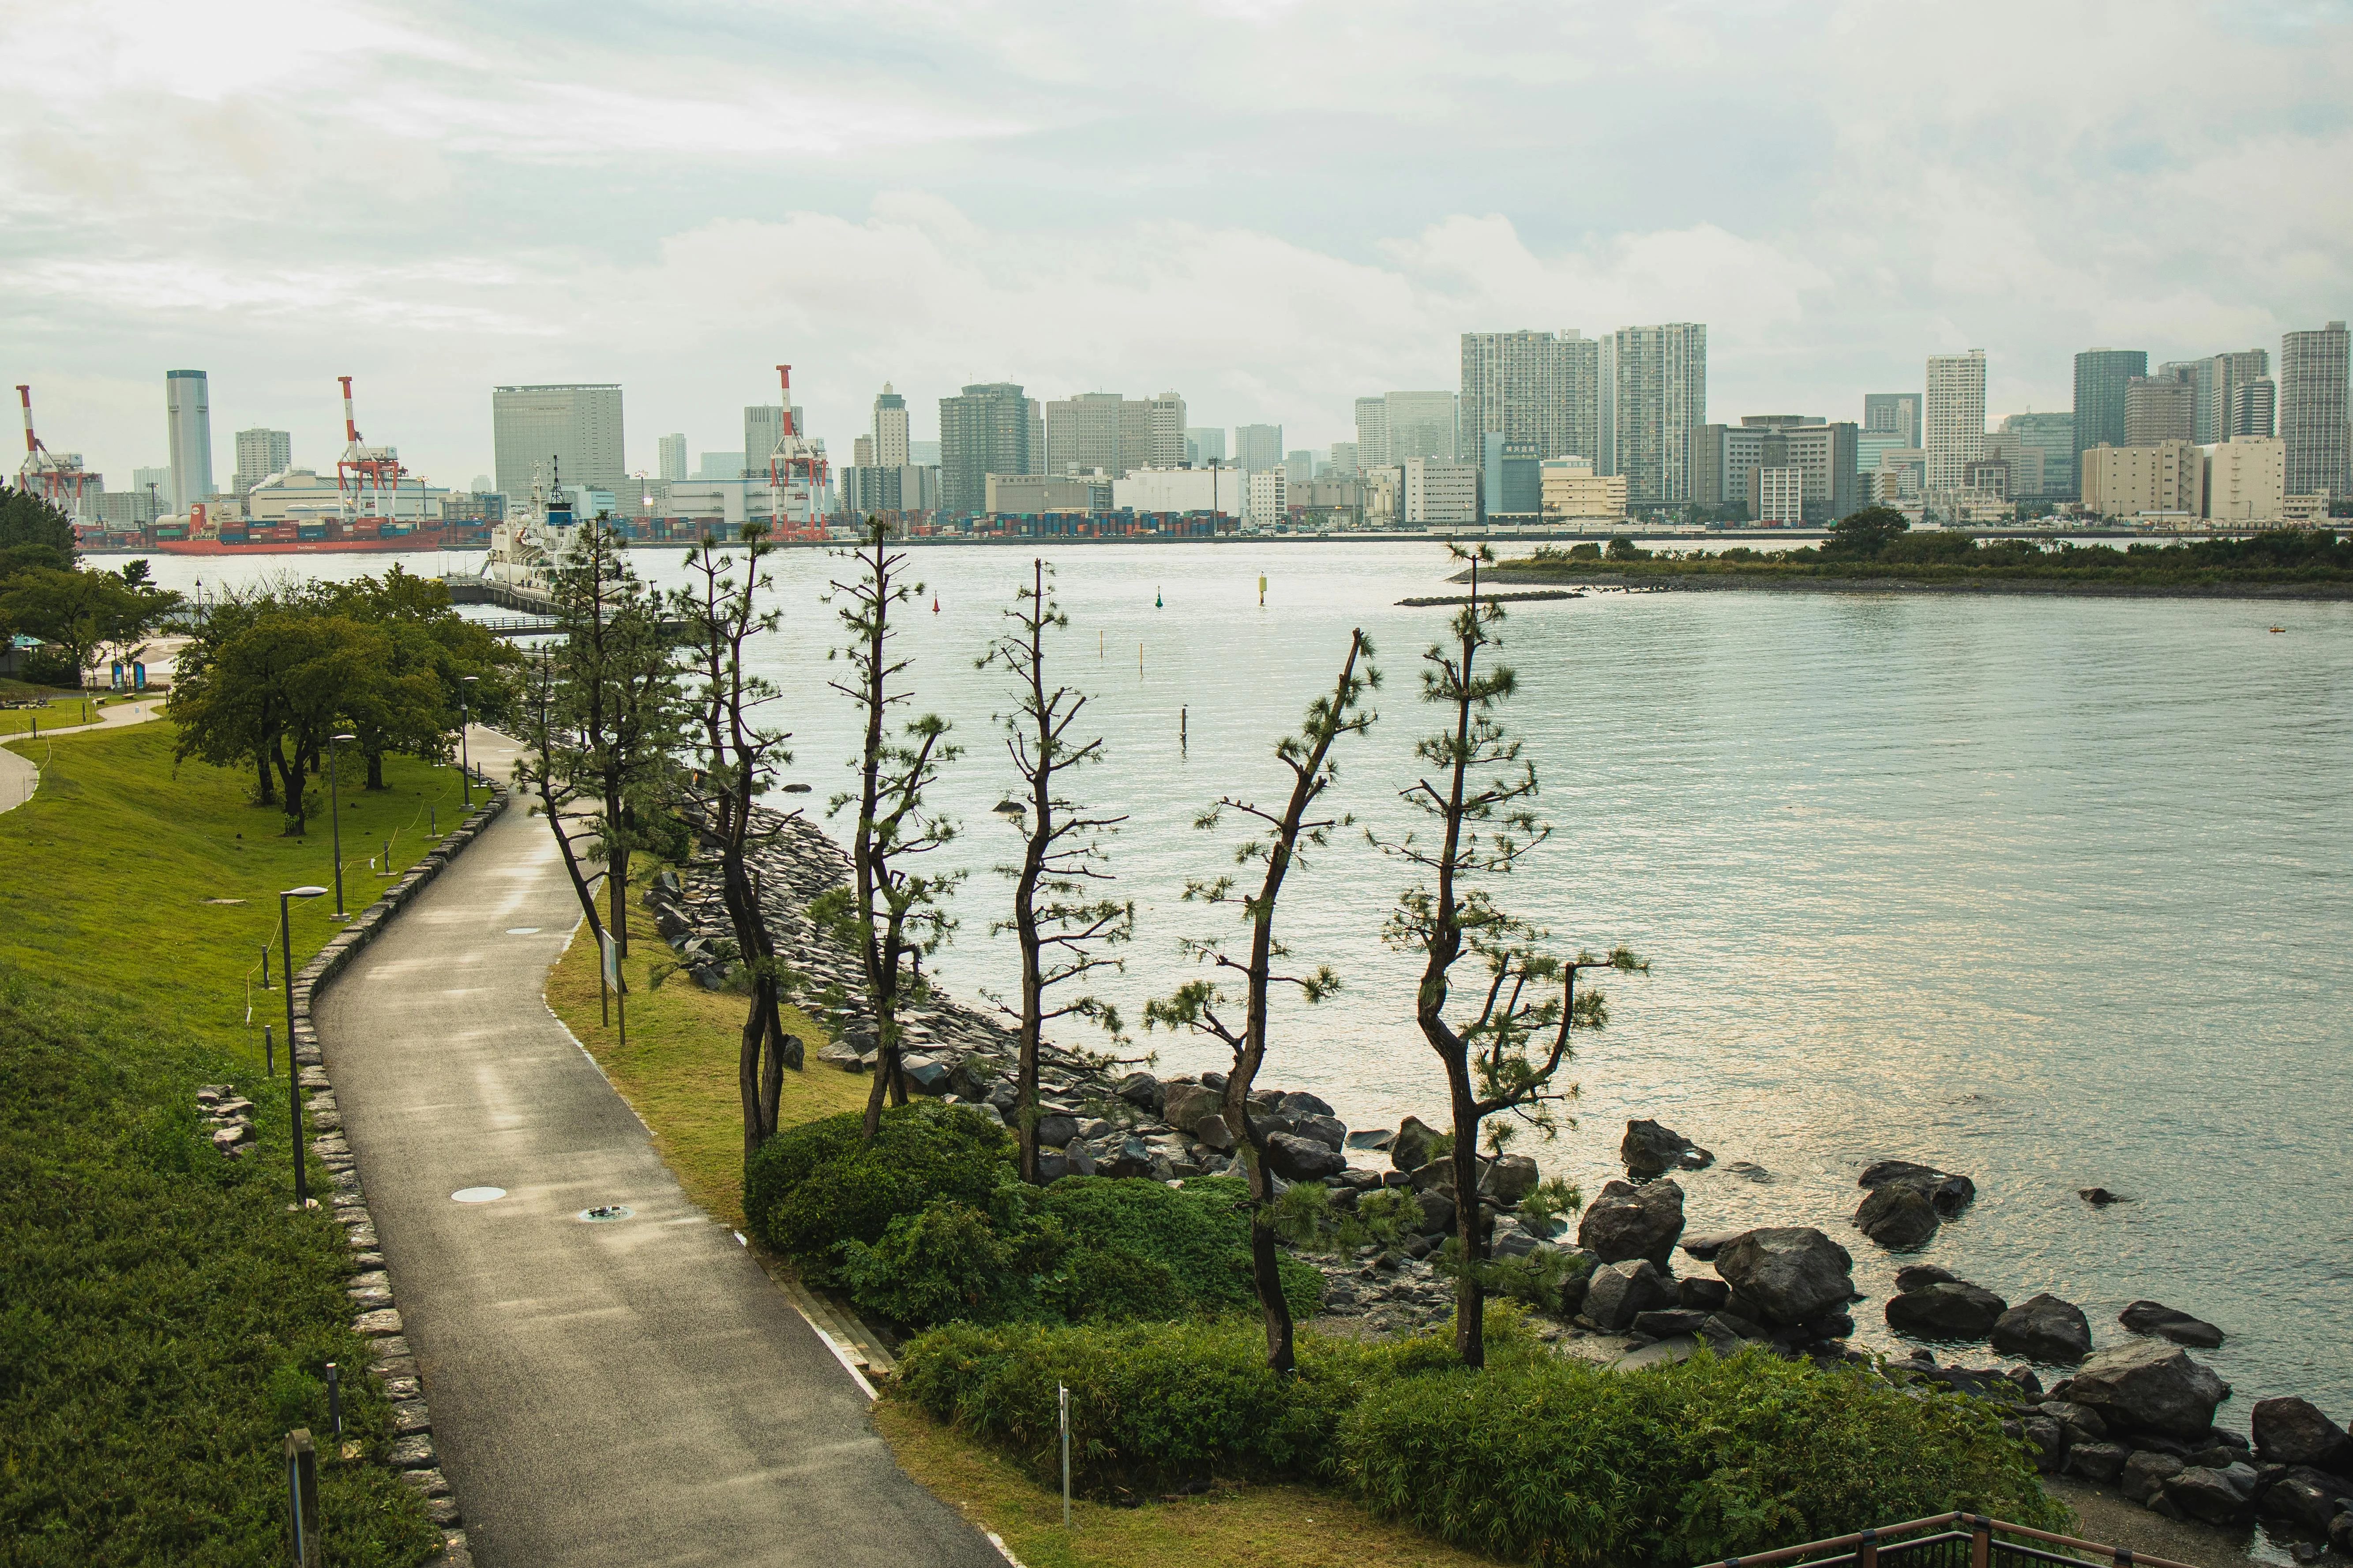
[[[320,1434],[334,1563],[440,1547],[419,1493],[334,1460],[320,1368],[367,1368],[325,1213],[287,1213],[273,1159],[202,1140],[195,1086],[242,1077],[129,1009],[0,966],[0,1561],[285,1559],[280,1441]],[[320,1173],[322,1175],[322,1173]],[[376,1382],[346,1380],[346,1434],[391,1441]]]

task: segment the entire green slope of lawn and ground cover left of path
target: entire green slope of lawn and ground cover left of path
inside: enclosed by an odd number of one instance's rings
[[[327,879],[327,842],[278,837],[242,776],[174,776],[169,724],[40,748],[40,795],[0,816],[0,1561],[275,1561],[278,1441],[325,1434],[325,1361],[367,1366],[339,1227],[287,1213],[285,1084],[245,1027],[273,893]],[[391,778],[348,811],[353,837],[381,846],[456,795],[424,764]],[[374,884],[351,867],[351,903]],[[329,931],[306,907],[296,964]],[[282,1018],[271,997],[254,1013]],[[202,1143],[202,1081],[254,1100],[256,1154]],[[369,1380],[346,1387],[358,1458],[391,1413]],[[327,1448],[329,1561],[405,1568],[440,1544],[393,1472]]]

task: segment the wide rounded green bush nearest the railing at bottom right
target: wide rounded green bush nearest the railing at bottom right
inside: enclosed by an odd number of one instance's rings
[[[2068,1521],[1991,1406],[1760,1349],[1386,1380],[1332,1458],[1372,1507],[1537,1563],[1680,1568],[1946,1509]]]

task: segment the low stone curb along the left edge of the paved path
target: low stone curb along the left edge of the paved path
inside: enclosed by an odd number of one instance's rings
[[[424,1493],[426,1514],[442,1530],[442,1549],[428,1561],[442,1568],[473,1568],[473,1552],[466,1549],[466,1530],[459,1528],[464,1526],[464,1516],[459,1514],[449,1481],[440,1472],[440,1455],[433,1450],[433,1413],[426,1406],[416,1356],[409,1354],[409,1342],[402,1333],[391,1274],[384,1267],[384,1255],[376,1251],[376,1220],[369,1215],[367,1197],[360,1192],[360,1166],[344,1140],[344,1112],[334,1103],[334,1081],[327,1077],[327,1063],[318,1048],[311,1001],[351,964],[353,954],[384,933],[402,905],[416,898],[449,860],[480,837],[482,827],[506,811],[508,792],[487,780],[482,788],[489,790],[489,799],[442,835],[440,849],[384,889],[376,903],[360,910],[315,959],[294,973],[292,1046],[304,1086],[304,1131],[311,1133],[311,1152],[334,1173],[334,1220],[344,1227],[353,1262],[360,1265],[346,1284],[351,1326],[367,1335],[367,1371],[384,1382],[384,1392],[393,1401],[395,1441],[388,1465],[402,1481]]]

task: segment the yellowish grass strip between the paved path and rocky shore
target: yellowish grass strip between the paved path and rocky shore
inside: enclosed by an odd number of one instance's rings
[[[659,990],[649,969],[668,957],[652,917],[631,903],[628,1051],[598,1023],[595,950],[574,940],[548,976],[548,1006],[588,1046],[621,1095],[654,1128],[654,1145],[706,1213],[744,1220],[744,1112],[736,1098],[736,1032],[744,997],[713,994],[685,976]],[[807,1016],[786,1016],[812,1053],[826,1034]],[[812,1065],[786,1074],[779,1124],[795,1126],[866,1105],[866,1077]],[[920,1410],[882,1403],[875,1427],[899,1465],[995,1530],[1031,1568],[1162,1568],[1174,1561],[1238,1568],[1454,1568],[1487,1559],[1433,1542],[1412,1526],[1299,1486],[1231,1486],[1209,1497],[1113,1509],[1073,1505],[1073,1537],[1061,1530],[1061,1497],[1042,1490],[986,1443]],[[1313,1523],[1313,1528],[1308,1528]]]

